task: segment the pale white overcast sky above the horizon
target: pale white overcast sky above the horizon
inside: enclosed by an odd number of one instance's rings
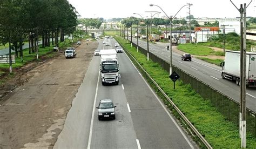
[[[139,17],[133,15],[133,12],[140,13],[142,16],[151,16],[150,13],[145,11],[160,11],[161,13],[156,17],[165,16],[164,13],[157,6],[149,6],[149,4],[155,4],[160,6],[167,15],[175,15],[181,6],[186,3],[192,3],[191,15],[194,17],[208,17],[208,18],[234,18],[239,17],[239,11],[234,7],[230,0],[68,0],[73,6],[75,6],[79,15],[82,18],[125,18],[125,17]],[[239,8],[240,4],[248,4],[251,0],[232,0],[232,2]],[[247,16],[256,17],[256,0],[247,8]],[[177,17],[188,16],[188,9],[185,6],[180,10]]]

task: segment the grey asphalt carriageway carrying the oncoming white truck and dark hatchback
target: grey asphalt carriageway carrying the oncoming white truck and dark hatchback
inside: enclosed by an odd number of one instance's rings
[[[99,42],[98,49],[114,49]],[[118,53],[119,85],[103,86],[94,56],[53,148],[198,148],[171,117],[125,53]],[[115,120],[98,120],[100,99],[112,99]]]

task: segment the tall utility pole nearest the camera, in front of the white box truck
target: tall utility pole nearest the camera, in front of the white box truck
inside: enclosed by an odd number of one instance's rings
[[[235,6],[235,4],[230,0]],[[251,0],[252,2],[252,0]],[[248,4],[248,6],[251,4]],[[237,6],[235,6],[237,8]],[[246,4],[237,10],[240,12],[241,47],[240,47],[240,112],[239,112],[239,134],[241,138],[241,148],[246,148]]]

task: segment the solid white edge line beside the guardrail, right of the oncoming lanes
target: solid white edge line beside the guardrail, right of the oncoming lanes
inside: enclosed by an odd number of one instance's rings
[[[125,53],[126,54],[126,53]],[[126,54],[127,56],[127,54]],[[128,56],[127,56],[128,57]],[[129,58],[129,57],[128,57]],[[129,58],[130,62],[132,63],[132,60]],[[139,73],[139,70],[137,69],[137,67],[132,63],[132,65],[134,66],[134,68],[137,70],[137,72]],[[165,110],[165,112],[168,114],[168,116],[170,117],[170,119],[173,121],[173,123],[176,125],[176,127],[178,128],[178,130],[180,131],[180,133],[182,134],[182,136],[185,138],[185,140],[187,141],[187,144],[191,147],[191,149],[194,149],[194,146],[191,144],[190,140],[188,140],[187,136],[184,134],[183,130],[181,130],[180,126],[177,124],[177,122],[173,119],[173,117],[171,116],[170,112],[166,109],[165,105],[161,102],[161,100],[158,98],[157,94],[151,89],[150,85],[146,82],[146,80],[142,77],[142,79],[144,80],[144,82],[146,83],[146,85],[149,87],[149,89],[151,90],[151,92],[154,94],[154,97],[157,98],[158,102],[161,104],[161,106],[163,107],[163,109]]]

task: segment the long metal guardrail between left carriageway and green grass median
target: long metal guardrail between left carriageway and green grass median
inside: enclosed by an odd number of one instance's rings
[[[153,78],[149,75],[149,73],[146,72],[146,70],[143,68],[142,65],[139,64],[137,59],[132,56],[132,54],[125,48],[125,46],[122,45],[118,40],[117,42],[123,47],[123,49],[126,51],[126,53],[129,53],[130,58],[133,62],[136,63],[137,66],[139,66],[140,70],[142,70],[146,77],[148,77],[151,82],[156,85],[157,89],[163,94],[163,96],[170,102],[170,104],[173,106],[173,108],[179,113],[180,117],[186,122],[186,124],[191,128],[191,130],[196,134],[196,136],[201,140],[201,142],[207,147],[212,148],[212,146],[206,141],[206,139],[200,134],[200,132],[197,130],[196,127],[186,118],[186,116],[179,110],[179,108],[173,103],[173,101],[167,96],[167,94],[161,89],[161,87],[153,80]]]

